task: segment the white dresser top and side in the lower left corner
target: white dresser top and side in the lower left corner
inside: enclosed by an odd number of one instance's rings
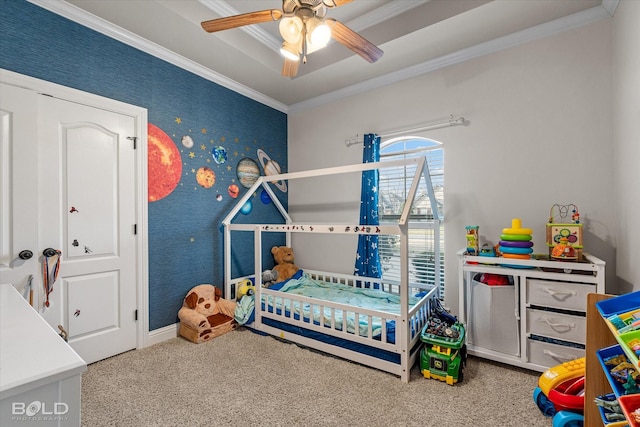
[[[0,425],[79,426],[87,365],[11,285],[0,285]]]

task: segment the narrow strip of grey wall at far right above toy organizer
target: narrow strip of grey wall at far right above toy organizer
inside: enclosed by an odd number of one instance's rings
[[[640,2],[623,0],[614,16],[614,189],[619,292],[640,289]],[[634,238],[635,237],[635,238]]]

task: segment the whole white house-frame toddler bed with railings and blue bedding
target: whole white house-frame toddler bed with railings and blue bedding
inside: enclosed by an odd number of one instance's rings
[[[283,208],[270,187],[270,183],[282,182],[283,180],[290,182],[290,180],[298,178],[361,173],[367,170],[412,165],[416,167],[416,173],[400,219],[395,224],[371,226],[296,223]],[[253,296],[255,308],[252,320],[245,326],[395,374],[402,381],[408,382],[411,367],[419,357],[422,345],[420,332],[435,307],[434,300],[438,298],[437,285],[414,283],[409,279],[408,236],[412,224],[409,219],[420,179],[424,179],[427,184],[434,217],[421,221],[420,227],[432,229],[436,251],[434,259],[439,260],[440,220],[424,157],[260,176],[223,220],[225,297],[234,298],[237,285],[246,279],[253,280],[256,285]],[[283,223],[235,223],[234,219],[242,207],[260,187],[269,194],[275,207],[280,211]],[[359,200],[357,202],[359,205]],[[253,234],[255,265],[254,273],[251,275],[232,277],[232,232],[234,235],[236,232]],[[264,233],[285,233],[287,246],[291,246],[291,235],[295,233],[396,236],[399,238],[400,247],[400,280],[323,272],[309,270],[302,266],[296,276],[289,281],[268,288],[263,287],[262,256],[265,251],[262,246]],[[434,268],[434,271],[436,274],[434,283],[437,284],[439,283],[439,268]],[[307,286],[311,286],[311,288]],[[321,289],[321,293],[318,293],[318,289]],[[352,291],[356,297],[348,296],[346,299],[331,297],[328,299],[327,291],[336,291],[341,295]],[[372,297],[375,302],[373,305],[369,302],[361,302],[361,297],[366,298],[367,301],[369,301],[369,297]]]

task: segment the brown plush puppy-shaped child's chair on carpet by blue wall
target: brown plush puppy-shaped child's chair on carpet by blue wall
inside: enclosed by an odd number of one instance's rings
[[[222,291],[213,285],[203,284],[191,289],[178,311],[180,335],[202,343],[235,329],[236,302],[221,296]]]

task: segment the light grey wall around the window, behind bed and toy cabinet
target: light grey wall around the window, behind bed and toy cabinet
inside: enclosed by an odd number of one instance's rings
[[[481,237],[496,243],[502,228],[519,217],[534,229],[536,252],[544,253],[549,209],[574,203],[585,222],[586,251],[613,267],[611,23],[600,21],[290,114],[289,169],[359,163],[361,145],[344,144],[356,133],[461,115],[470,126],[420,134],[445,144],[446,294],[454,312],[456,252],[465,245],[469,224],[479,225]],[[289,201],[292,210],[314,201],[315,208],[330,211],[334,196],[357,201],[359,181],[324,189],[292,185]],[[322,244],[327,245],[322,263],[353,268],[354,245]],[[294,247],[298,265],[318,261],[317,249]],[[614,276],[608,277],[613,282]]]

